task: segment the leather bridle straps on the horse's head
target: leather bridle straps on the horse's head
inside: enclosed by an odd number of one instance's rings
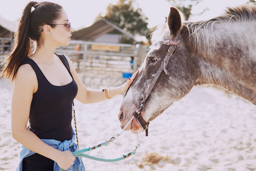
[[[145,129],[146,136],[148,136],[149,122],[147,122],[143,119],[143,116],[140,115],[140,112],[141,112],[143,105],[144,105],[145,101],[147,100],[149,94],[151,93],[153,87],[155,86],[157,80],[159,79],[159,77],[162,73],[162,70],[164,70],[166,75],[169,75],[169,72],[166,70],[166,66],[169,62],[170,57],[172,56],[173,52],[175,51],[176,46],[179,43],[179,41],[177,41],[177,39],[174,39],[174,40],[158,41],[156,43],[170,45],[170,47],[164,57],[164,60],[161,63],[161,66],[159,67],[159,70],[156,72],[156,75],[151,80],[151,83],[149,84],[149,86],[147,88],[147,92],[143,96],[143,101],[140,105],[140,108],[137,109],[137,111],[133,112],[133,116],[139,121],[141,127],[143,127],[143,129]]]

